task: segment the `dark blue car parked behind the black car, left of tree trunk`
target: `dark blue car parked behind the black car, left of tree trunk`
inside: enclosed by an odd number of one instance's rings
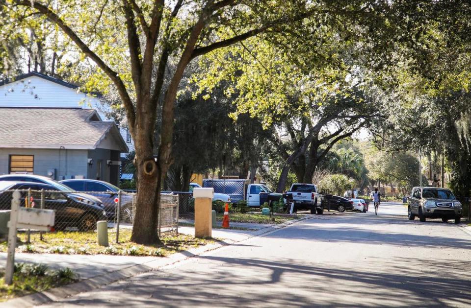
[[[105,205],[106,217],[108,221],[113,221],[116,215],[116,203],[114,199],[118,196],[121,190],[119,187],[105,181],[90,180],[90,179],[70,179],[59,181],[76,191],[86,191],[87,194],[95,196],[103,201]],[[121,209],[129,209],[132,211],[132,196],[128,194],[121,195]],[[124,217],[121,217],[124,219]],[[124,221],[131,222],[131,221]]]

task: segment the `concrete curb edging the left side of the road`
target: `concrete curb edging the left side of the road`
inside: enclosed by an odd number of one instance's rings
[[[37,305],[42,305],[42,304],[47,304],[47,303],[50,303],[50,302],[59,301],[59,300],[64,299],[64,298],[77,295],[78,293],[88,292],[88,291],[91,291],[93,289],[100,288],[100,287],[102,287],[104,285],[107,285],[107,284],[112,284],[112,283],[115,283],[117,281],[124,280],[124,279],[127,279],[127,278],[131,278],[133,276],[136,276],[136,275],[139,275],[139,274],[142,274],[142,273],[157,270],[161,267],[169,266],[169,265],[181,262],[181,261],[185,261],[185,260],[188,260],[190,258],[197,257],[197,256],[199,256],[203,253],[206,253],[206,252],[209,252],[209,251],[221,248],[221,247],[229,246],[229,245],[235,244],[237,242],[247,240],[247,239],[252,238],[252,237],[261,236],[265,233],[269,233],[269,232],[272,232],[272,231],[275,231],[275,230],[279,230],[279,229],[285,228],[289,225],[292,225],[294,223],[297,223],[297,222],[300,222],[300,221],[303,221],[303,220],[307,220],[307,219],[312,219],[312,218],[314,218],[314,216],[315,216],[314,214],[308,214],[308,215],[305,215],[305,216],[303,216],[301,218],[298,218],[298,219],[288,220],[286,222],[283,222],[283,223],[280,223],[280,224],[277,224],[277,225],[268,226],[268,227],[262,228],[260,230],[254,231],[248,237],[240,239],[240,240],[228,240],[228,239],[219,240],[219,239],[215,239],[216,242],[214,244],[208,244],[208,245],[205,245],[205,246],[201,246],[201,247],[181,251],[181,252],[175,253],[175,254],[171,255],[170,257],[167,257],[167,258],[161,258],[161,259],[156,259],[156,260],[153,260],[153,261],[143,262],[143,263],[136,264],[136,265],[131,265],[131,266],[126,267],[126,268],[122,268],[122,269],[119,269],[119,270],[116,270],[116,271],[108,272],[108,273],[105,273],[105,274],[102,274],[102,275],[99,275],[99,276],[95,276],[95,277],[92,277],[92,278],[89,278],[89,279],[86,279],[86,280],[83,280],[83,281],[79,281],[79,282],[76,282],[76,283],[67,284],[67,285],[64,285],[64,286],[59,286],[59,287],[56,287],[56,288],[52,288],[52,289],[49,289],[49,290],[46,290],[46,291],[26,295],[26,296],[19,297],[19,298],[14,298],[14,299],[8,300],[6,302],[0,303],[0,306],[1,307],[12,307],[12,308],[17,308],[17,307],[26,308],[26,307],[33,307],[33,306],[37,306]]]

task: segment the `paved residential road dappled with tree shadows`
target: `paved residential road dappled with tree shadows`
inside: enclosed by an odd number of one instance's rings
[[[312,219],[50,306],[471,306],[471,236],[401,204]]]

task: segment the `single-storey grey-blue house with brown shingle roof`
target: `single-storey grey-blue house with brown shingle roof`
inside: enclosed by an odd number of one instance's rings
[[[0,107],[0,174],[118,184],[126,152],[116,124],[93,109]]]

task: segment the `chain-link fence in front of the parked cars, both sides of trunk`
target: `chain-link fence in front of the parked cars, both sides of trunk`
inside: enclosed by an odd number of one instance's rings
[[[15,190],[0,190],[0,210],[10,210]],[[108,228],[116,231],[132,229],[136,207],[136,193],[112,191],[58,191],[28,189],[20,191],[20,206],[55,211],[56,231],[95,231],[97,221],[105,220]],[[175,193],[162,193],[159,214],[160,231],[178,233],[179,201]],[[187,198],[183,197],[183,200]],[[187,206],[185,205],[185,209]],[[6,230],[9,218],[0,219],[0,232]],[[5,224],[5,226],[1,226]],[[3,228],[2,228],[3,227]],[[138,226],[137,226],[138,227]]]

